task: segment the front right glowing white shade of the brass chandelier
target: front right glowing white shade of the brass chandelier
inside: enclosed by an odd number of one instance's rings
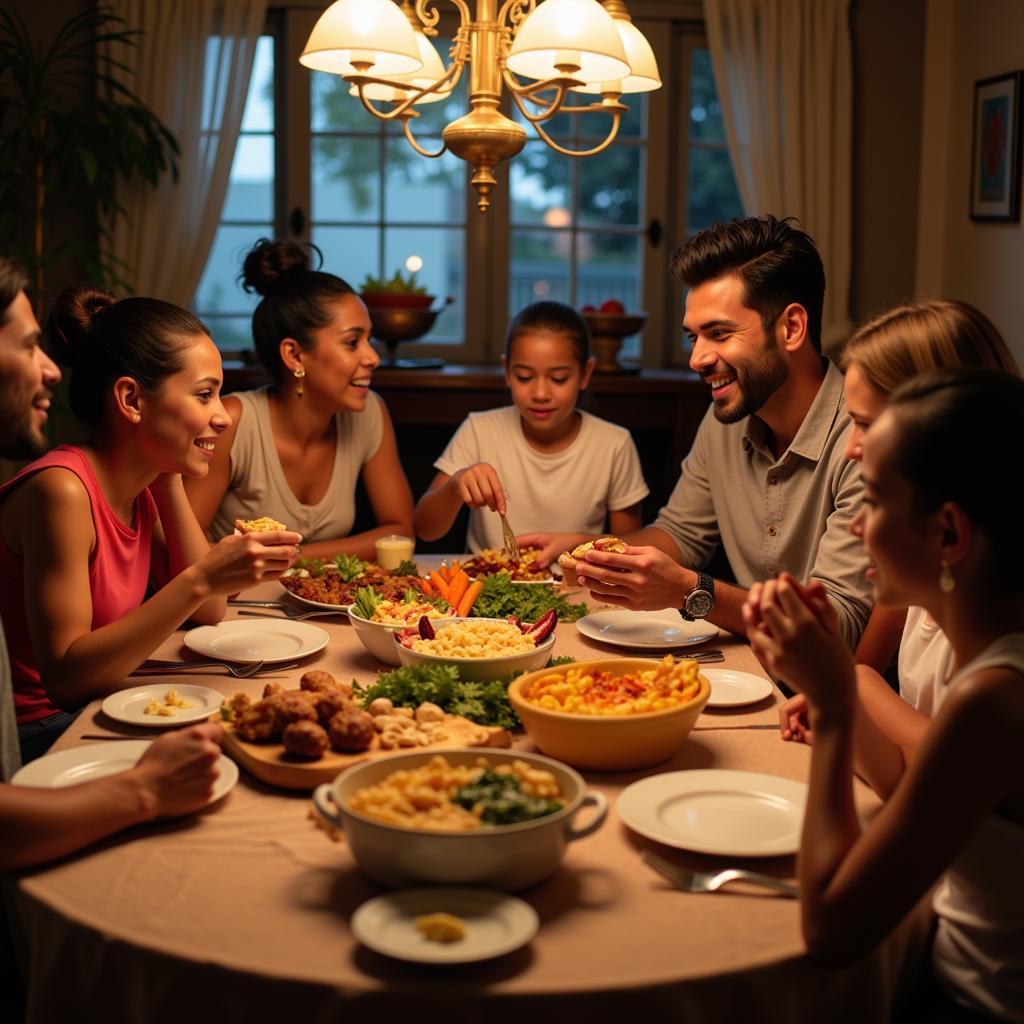
[[[631,73],[615,23],[597,0],[544,0],[519,26],[508,56],[512,72],[539,81],[567,61],[580,67],[572,77],[587,83]]]

